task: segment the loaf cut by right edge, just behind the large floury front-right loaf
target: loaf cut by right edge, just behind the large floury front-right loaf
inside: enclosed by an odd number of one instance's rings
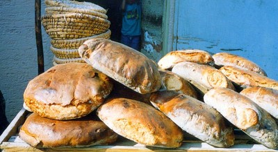
[[[264,87],[245,88],[240,92],[278,119],[278,90]]]

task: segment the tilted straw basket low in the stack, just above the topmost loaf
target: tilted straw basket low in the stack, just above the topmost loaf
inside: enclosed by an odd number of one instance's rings
[[[107,30],[106,32],[101,33],[99,35],[93,35],[92,37],[84,37],[81,39],[60,39],[60,40],[51,39],[51,45],[54,48],[78,49],[79,46],[81,46],[84,43],[84,41],[88,39],[93,39],[93,38],[110,39],[110,36],[111,36],[111,30]]]

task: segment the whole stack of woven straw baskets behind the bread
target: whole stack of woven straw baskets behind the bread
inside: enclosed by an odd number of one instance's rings
[[[54,65],[84,62],[78,48],[95,37],[110,39],[106,10],[94,3],[70,0],[45,0],[47,8],[42,25],[51,37]]]

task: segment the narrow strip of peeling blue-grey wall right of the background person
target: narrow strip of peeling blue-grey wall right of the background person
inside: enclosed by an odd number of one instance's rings
[[[142,49],[147,57],[161,59],[163,46],[163,0],[142,1]]]

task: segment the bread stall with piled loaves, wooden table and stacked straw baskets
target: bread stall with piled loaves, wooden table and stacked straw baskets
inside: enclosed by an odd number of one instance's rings
[[[55,66],[26,86],[2,151],[277,151],[278,82],[254,62],[192,49],[156,63],[110,40],[101,8],[46,2]]]

